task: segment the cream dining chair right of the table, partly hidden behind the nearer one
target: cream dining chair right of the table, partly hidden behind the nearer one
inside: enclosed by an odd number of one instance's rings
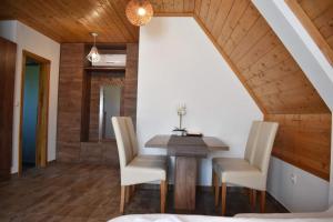
[[[219,205],[219,199],[220,199],[220,185],[219,180],[215,172],[220,172],[220,165],[223,164],[234,164],[234,165],[242,165],[242,164],[249,164],[253,163],[254,159],[254,151],[258,142],[258,135],[261,128],[262,121],[253,121],[250,133],[248,137],[246,145],[245,145],[245,153],[244,158],[213,158],[212,160],[212,185],[214,186],[214,193],[215,193],[215,206]],[[253,205],[253,199],[255,202],[255,192],[250,190],[250,203]]]

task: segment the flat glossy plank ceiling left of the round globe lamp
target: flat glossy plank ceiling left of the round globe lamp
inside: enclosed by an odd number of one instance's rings
[[[17,19],[58,42],[138,42],[125,0],[2,0],[0,20]]]

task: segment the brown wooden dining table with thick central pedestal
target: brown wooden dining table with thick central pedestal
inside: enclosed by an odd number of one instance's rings
[[[210,152],[228,151],[229,147],[215,137],[183,137],[158,134],[151,138],[145,148],[167,149],[169,157],[175,158],[174,209],[195,210],[198,162]]]

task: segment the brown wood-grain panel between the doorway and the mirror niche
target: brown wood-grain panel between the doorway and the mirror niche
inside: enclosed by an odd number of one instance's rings
[[[83,43],[61,44],[57,128],[59,161],[80,161],[83,63]]]

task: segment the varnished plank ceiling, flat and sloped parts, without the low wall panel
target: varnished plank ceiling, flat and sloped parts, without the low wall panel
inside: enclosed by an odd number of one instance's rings
[[[331,42],[333,0],[304,10]],[[138,42],[127,0],[4,0],[0,19],[18,19],[59,42]],[[264,113],[329,112],[305,74],[250,0],[151,0],[155,14],[194,16]],[[313,10],[315,9],[315,10]],[[325,21],[325,22],[323,22]],[[330,29],[331,28],[331,29]]]

